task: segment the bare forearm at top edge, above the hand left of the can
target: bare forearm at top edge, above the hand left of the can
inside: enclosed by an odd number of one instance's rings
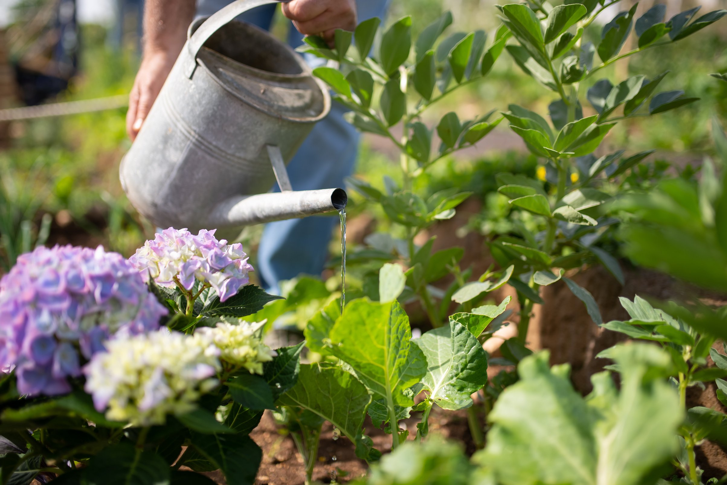
[[[194,18],[195,0],[150,0],[144,6],[144,54],[177,55]]]

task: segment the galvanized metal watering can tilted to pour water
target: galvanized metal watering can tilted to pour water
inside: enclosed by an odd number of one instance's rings
[[[236,228],[339,211],[342,189],[293,191],[285,164],[331,99],[302,57],[233,21],[275,0],[237,0],[190,25],[131,149],[121,185],[160,227]],[[278,181],[280,193],[268,192]]]

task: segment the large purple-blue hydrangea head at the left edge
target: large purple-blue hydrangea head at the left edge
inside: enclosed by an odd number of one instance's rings
[[[119,253],[37,248],[0,280],[0,368],[15,367],[20,394],[64,394],[81,355],[114,333],[155,330],[166,312]]]

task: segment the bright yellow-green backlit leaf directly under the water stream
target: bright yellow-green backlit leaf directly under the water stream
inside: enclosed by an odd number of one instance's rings
[[[425,375],[426,361],[411,343],[409,317],[397,302],[352,301],[331,330],[331,341],[331,353],[350,365],[375,399],[414,404],[406,390]]]

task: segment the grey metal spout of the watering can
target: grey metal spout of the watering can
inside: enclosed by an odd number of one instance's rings
[[[348,195],[343,189],[290,190],[230,197],[210,217],[212,227],[242,227],[340,211]]]

